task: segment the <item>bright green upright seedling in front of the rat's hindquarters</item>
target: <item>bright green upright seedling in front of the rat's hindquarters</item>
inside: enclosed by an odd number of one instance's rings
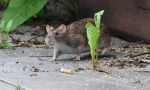
[[[95,13],[94,15],[95,25],[93,25],[90,22],[87,22],[85,26],[87,29],[88,44],[90,46],[91,57],[92,57],[91,61],[92,61],[93,68],[96,66],[96,62],[98,59],[98,55],[97,55],[98,41],[99,41],[99,36],[101,34],[100,20],[103,13],[104,10]]]

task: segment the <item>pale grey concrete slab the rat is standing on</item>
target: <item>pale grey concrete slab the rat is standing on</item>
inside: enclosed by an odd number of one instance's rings
[[[111,72],[90,70],[89,60],[59,60],[49,62],[52,49],[15,48],[0,50],[0,90],[15,90],[17,85],[31,90],[149,90],[150,73],[134,72],[150,70],[146,68],[119,69],[102,67]],[[61,58],[66,57],[62,55]],[[68,55],[69,56],[69,55]],[[60,68],[74,69],[76,65],[84,68],[74,74],[59,72]],[[36,70],[34,70],[36,69]]]

